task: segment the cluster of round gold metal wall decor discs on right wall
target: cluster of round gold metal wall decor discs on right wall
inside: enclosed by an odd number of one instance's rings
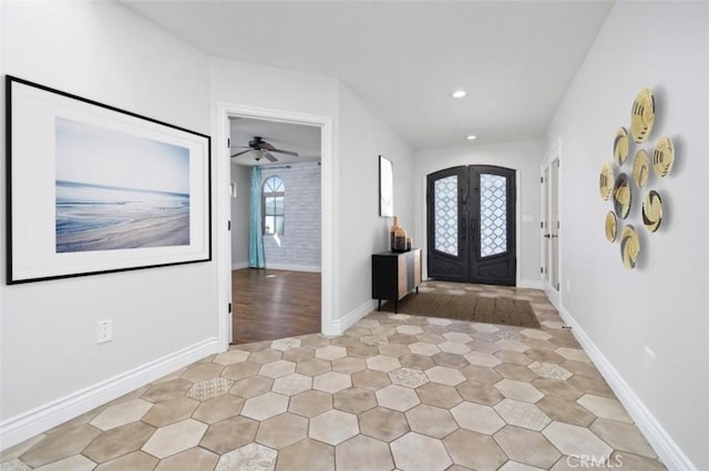
[[[604,201],[613,201],[613,209],[606,213],[605,235],[609,243],[620,242],[620,257],[623,265],[634,269],[640,256],[640,237],[634,225],[634,219],[641,219],[645,228],[650,233],[659,231],[662,224],[662,198],[656,190],[647,190],[645,194],[637,194],[641,205],[633,209],[633,193],[637,188],[641,192],[648,183],[657,182],[653,178],[665,178],[675,165],[675,145],[668,135],[660,136],[651,149],[641,149],[648,143],[655,124],[655,96],[653,91],[645,88],[638,92],[630,110],[630,127],[617,129],[613,141],[613,161],[604,162],[600,170],[598,191]],[[630,141],[633,136],[633,141]],[[637,149],[633,149],[637,146]],[[623,165],[630,152],[635,152],[633,168],[623,170]],[[650,166],[653,172],[650,172]],[[655,174],[655,176],[653,176]],[[613,198],[610,198],[613,196]],[[666,209],[666,208],[665,208]],[[635,216],[634,216],[635,215]],[[623,227],[623,219],[627,219]]]

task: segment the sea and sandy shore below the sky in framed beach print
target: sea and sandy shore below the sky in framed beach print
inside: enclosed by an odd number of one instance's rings
[[[188,194],[56,181],[56,253],[189,245],[188,216]]]

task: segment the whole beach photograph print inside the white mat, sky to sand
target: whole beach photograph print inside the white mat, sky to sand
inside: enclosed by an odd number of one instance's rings
[[[189,150],[55,116],[58,254],[189,245]]]

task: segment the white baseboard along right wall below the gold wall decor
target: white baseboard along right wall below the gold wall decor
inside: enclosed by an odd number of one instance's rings
[[[596,344],[594,344],[578,325],[574,316],[572,316],[563,305],[559,305],[559,307],[561,309],[558,309],[558,311],[562,319],[572,327],[572,332],[658,454],[660,461],[662,461],[670,471],[698,471],[697,467],[693,465],[675,440],[667,433],[665,428],[662,428],[655,416],[653,416],[653,412],[650,412],[647,406],[645,406],[625,381],[618,370],[615,369],[598,347],[596,347]]]

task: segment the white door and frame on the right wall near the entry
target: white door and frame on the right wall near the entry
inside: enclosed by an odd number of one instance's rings
[[[544,174],[545,171],[547,168],[551,168],[552,165],[558,162],[558,166],[557,166],[557,172],[556,172],[556,182],[548,182],[547,180],[544,180]],[[541,204],[541,221],[545,222],[546,221],[546,216],[547,214],[552,213],[552,201],[548,198],[548,185],[551,184],[556,184],[556,204],[557,204],[557,213],[561,215],[562,214],[562,140],[559,139],[557,141],[557,143],[549,150],[548,154],[546,155],[546,157],[544,157],[544,160],[542,161],[542,165],[540,166],[540,177],[542,178],[542,185],[541,185],[541,198],[540,201],[542,202]],[[549,172],[549,175],[552,173]],[[561,219],[561,218],[559,218]],[[547,244],[547,239],[544,237],[544,234],[546,232],[545,227],[540,227],[540,254],[541,254],[541,262],[542,262],[542,269],[545,270],[549,270],[549,269],[554,269],[554,267],[551,267],[551,254],[546,252],[546,244]],[[551,233],[549,233],[551,234]],[[561,306],[561,301],[562,301],[562,243],[563,243],[563,237],[562,237],[562,227],[559,227],[557,229],[557,235],[558,238],[557,240],[557,257],[556,257],[556,276],[557,276],[557,281],[558,281],[558,289],[556,289],[554,286],[552,286],[551,284],[546,283],[546,277],[545,277],[545,273],[541,273],[540,274],[540,280],[542,283],[542,287],[544,289],[544,291],[546,293],[546,296],[548,297],[549,301],[552,303],[552,305],[554,305],[554,307],[556,307],[557,309],[559,309]],[[544,256],[546,254],[546,257]]]

